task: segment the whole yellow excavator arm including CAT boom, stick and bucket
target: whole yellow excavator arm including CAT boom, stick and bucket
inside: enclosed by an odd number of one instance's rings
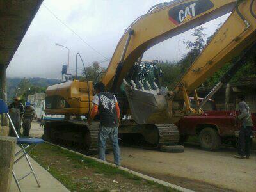
[[[184,115],[201,115],[202,104],[196,100],[197,108],[192,108],[189,95],[194,93],[195,99],[198,98],[196,88],[200,84],[225,63],[241,52],[248,51],[255,44],[255,2],[175,1],[155,8],[136,20],[124,34],[116,47],[103,82],[112,92],[116,92],[133,63],[147,49],[224,13],[232,12],[173,91],[156,94],[150,88],[146,91],[144,88],[140,90],[124,81],[131,115],[138,124],[170,123],[177,122]],[[223,83],[225,82],[218,84],[211,93]]]

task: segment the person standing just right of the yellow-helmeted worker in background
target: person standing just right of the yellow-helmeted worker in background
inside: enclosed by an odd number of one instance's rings
[[[31,128],[31,122],[35,116],[35,109],[29,102],[26,102],[25,105],[25,111],[22,119],[22,127],[23,127],[23,136],[28,137],[29,136],[29,131]]]

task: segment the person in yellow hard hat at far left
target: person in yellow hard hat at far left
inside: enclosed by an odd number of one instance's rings
[[[13,102],[8,106],[10,111],[10,117],[12,119],[13,125],[17,131],[17,134],[20,134],[21,128],[21,119],[24,114],[24,106],[21,103],[21,98],[19,96],[13,99]],[[10,136],[16,136],[15,132],[12,129],[12,125],[10,127]]]

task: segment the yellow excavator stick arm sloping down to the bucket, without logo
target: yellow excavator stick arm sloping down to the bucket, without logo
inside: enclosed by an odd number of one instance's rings
[[[254,0],[241,1],[237,4],[218,33],[176,84],[175,99],[188,99],[189,94],[195,92],[195,89],[204,83],[207,77],[212,76],[225,63],[239,56],[241,52],[245,54],[246,51],[250,51],[250,47],[256,42],[255,10],[256,1]],[[214,92],[223,83],[227,82],[220,81]],[[189,106],[187,109],[189,110]]]

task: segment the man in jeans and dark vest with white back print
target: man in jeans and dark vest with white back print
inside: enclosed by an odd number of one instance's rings
[[[100,129],[98,136],[99,159],[105,161],[106,140],[109,137],[113,147],[114,163],[120,166],[120,149],[118,145],[118,125],[120,109],[115,95],[105,92],[105,85],[98,82],[94,86],[93,109],[88,124],[99,113]]]

